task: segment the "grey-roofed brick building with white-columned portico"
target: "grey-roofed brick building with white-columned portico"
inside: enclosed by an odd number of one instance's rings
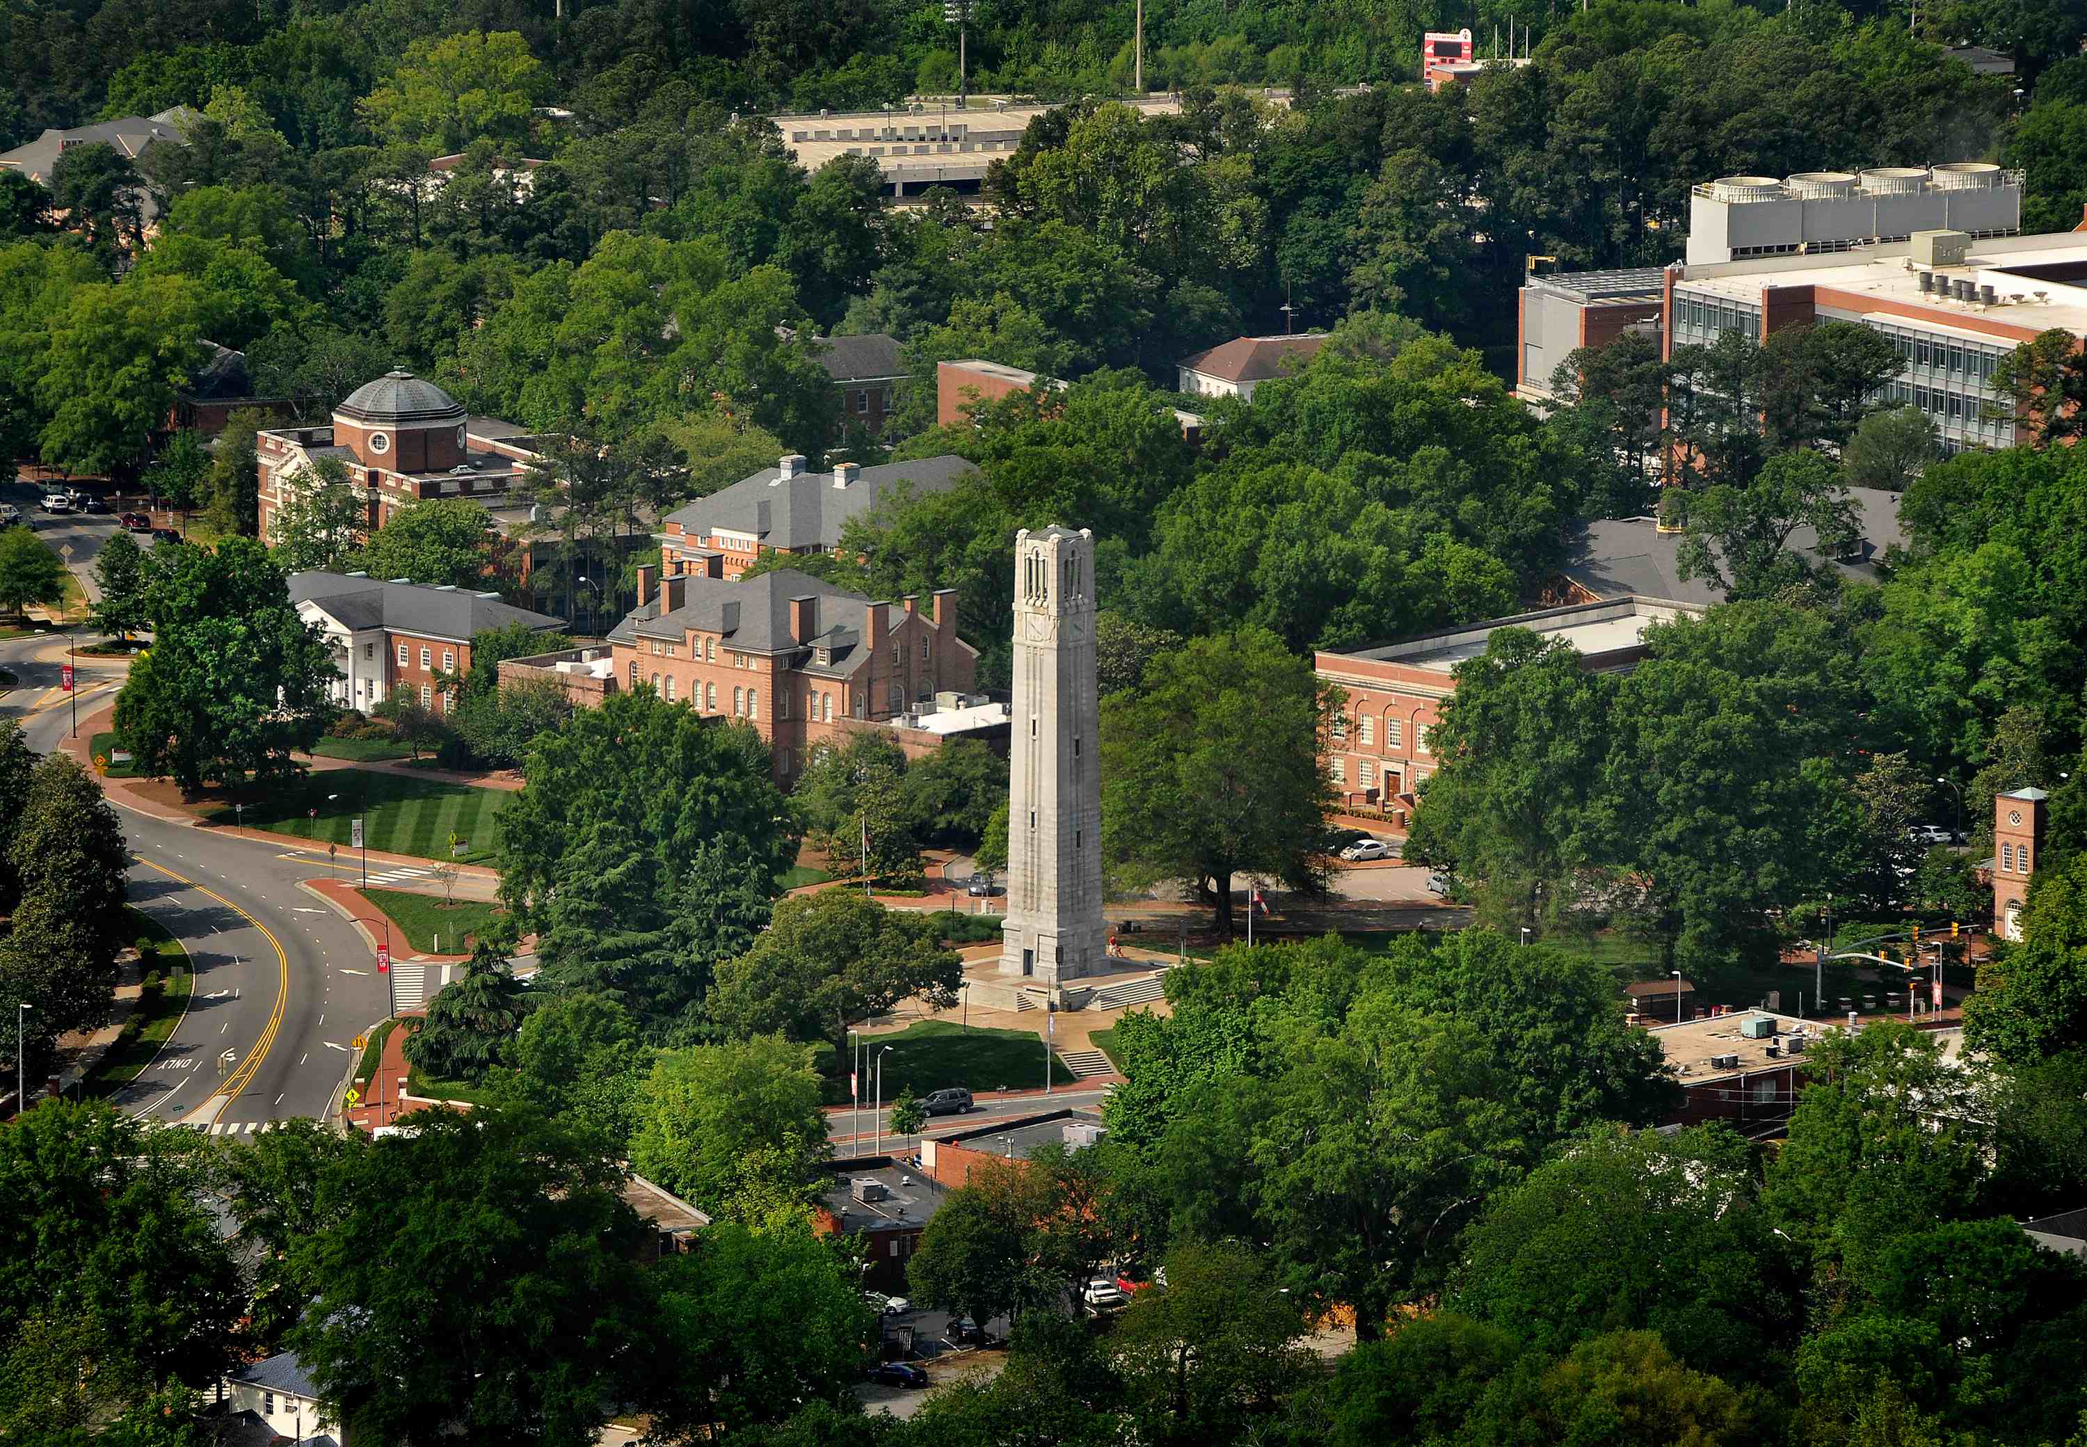
[[[340,670],[334,702],[365,712],[399,689],[447,712],[440,683],[472,668],[476,635],[511,622],[538,633],[563,626],[547,614],[509,608],[499,593],[384,583],[365,572],[292,572],[290,601],[334,649]]]

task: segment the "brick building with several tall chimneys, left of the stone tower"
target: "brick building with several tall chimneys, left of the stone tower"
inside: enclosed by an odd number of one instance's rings
[[[753,578],[639,568],[639,606],[609,635],[618,687],[651,687],[699,714],[741,718],[793,781],[812,750],[893,731],[922,706],[966,695],[979,651],[956,637],[956,591],[927,610],[883,603],[778,568]],[[1002,725],[1004,729],[1004,725]],[[941,743],[920,731],[918,750]]]

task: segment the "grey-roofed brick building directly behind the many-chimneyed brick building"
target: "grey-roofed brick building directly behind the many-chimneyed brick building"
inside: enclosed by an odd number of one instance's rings
[[[977,472],[962,457],[922,457],[833,472],[806,472],[799,453],[762,468],[728,489],[676,507],[662,520],[659,562],[678,570],[737,578],[764,553],[831,553],[841,528],[910,484],[914,495],[941,493]],[[643,606],[643,599],[641,599]]]

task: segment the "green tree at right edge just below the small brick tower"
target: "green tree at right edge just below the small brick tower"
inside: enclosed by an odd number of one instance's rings
[[[1978,967],[1964,1042],[2012,1065],[2087,1044],[2087,854],[2039,864],[2022,942]]]

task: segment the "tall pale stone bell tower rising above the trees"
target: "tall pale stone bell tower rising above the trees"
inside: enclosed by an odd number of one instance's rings
[[[1000,973],[1052,990],[1102,971],[1094,535],[1014,535],[1008,917]]]

